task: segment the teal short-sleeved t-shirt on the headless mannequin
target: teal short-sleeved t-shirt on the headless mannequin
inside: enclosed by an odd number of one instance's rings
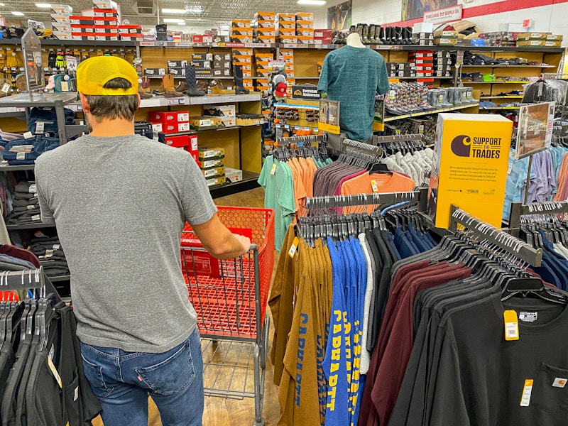
[[[369,48],[346,45],[328,53],[317,90],[339,101],[339,126],[355,141],[373,133],[375,92],[390,89],[384,58]]]

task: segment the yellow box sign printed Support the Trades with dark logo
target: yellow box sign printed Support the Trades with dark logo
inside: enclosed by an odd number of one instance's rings
[[[447,229],[450,207],[501,228],[513,121],[490,114],[439,114],[428,212]]]

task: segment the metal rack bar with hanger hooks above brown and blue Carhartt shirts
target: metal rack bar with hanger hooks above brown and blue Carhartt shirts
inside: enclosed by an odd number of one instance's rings
[[[428,188],[411,192],[387,192],[383,194],[334,195],[327,197],[307,197],[305,208],[327,209],[333,207],[356,207],[373,204],[398,204],[400,202],[419,202],[418,211],[425,212]]]

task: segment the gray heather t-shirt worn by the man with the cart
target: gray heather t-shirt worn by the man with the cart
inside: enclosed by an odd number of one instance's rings
[[[35,179],[69,263],[81,341],[161,353],[187,339],[197,316],[180,235],[217,211],[190,153],[138,135],[83,136],[43,153]]]

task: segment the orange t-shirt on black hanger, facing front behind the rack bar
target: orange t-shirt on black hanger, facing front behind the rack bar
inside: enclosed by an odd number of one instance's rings
[[[373,191],[373,181],[377,190]],[[357,194],[385,194],[387,192],[408,192],[412,191],[415,187],[414,180],[400,175],[399,173],[373,173],[369,175],[368,172],[356,176],[343,182],[342,195],[357,195]],[[366,206],[366,212],[371,214],[377,208],[376,205]],[[344,207],[343,214],[361,212],[361,207]]]

